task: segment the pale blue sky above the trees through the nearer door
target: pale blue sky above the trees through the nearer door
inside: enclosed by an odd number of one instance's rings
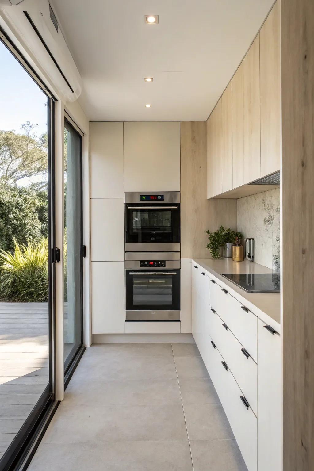
[[[0,130],[22,132],[26,121],[38,124],[36,133],[47,132],[47,98],[16,58],[0,41]]]

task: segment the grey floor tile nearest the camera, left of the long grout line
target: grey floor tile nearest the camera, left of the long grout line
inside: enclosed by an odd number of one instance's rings
[[[40,444],[28,471],[192,471],[187,441]]]

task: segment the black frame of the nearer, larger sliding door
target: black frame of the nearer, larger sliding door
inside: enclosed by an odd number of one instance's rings
[[[13,54],[24,70],[37,83],[47,97],[48,124],[48,351],[49,382],[37,404],[17,432],[0,460],[0,471],[26,469],[48,427],[58,402],[55,400],[56,387],[56,305],[55,305],[55,263],[52,262],[52,249],[55,247],[55,102],[57,101],[39,75],[24,59],[6,32],[0,27],[0,41]]]

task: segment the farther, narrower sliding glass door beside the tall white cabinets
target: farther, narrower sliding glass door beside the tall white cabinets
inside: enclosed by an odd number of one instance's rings
[[[82,136],[64,119],[64,372],[83,342]]]

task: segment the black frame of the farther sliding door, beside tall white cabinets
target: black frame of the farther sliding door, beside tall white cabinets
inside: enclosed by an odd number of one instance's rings
[[[80,138],[80,156],[79,156],[79,164],[80,164],[80,239],[81,239],[81,263],[80,263],[80,270],[81,270],[81,276],[80,276],[80,284],[81,284],[81,306],[80,306],[80,333],[81,333],[81,342],[80,345],[77,347],[77,349],[72,353],[71,356],[65,359],[64,361],[64,390],[67,387],[72,374],[74,373],[74,370],[76,366],[78,365],[81,356],[84,353],[85,347],[84,347],[84,284],[83,284],[83,257],[84,257],[84,251],[83,251],[83,244],[84,244],[84,239],[83,239],[83,136],[84,133],[81,131],[81,129],[76,125],[76,123],[72,120],[72,118],[64,112],[64,126],[68,126],[69,129],[71,129],[74,133],[76,133],[79,138]]]

